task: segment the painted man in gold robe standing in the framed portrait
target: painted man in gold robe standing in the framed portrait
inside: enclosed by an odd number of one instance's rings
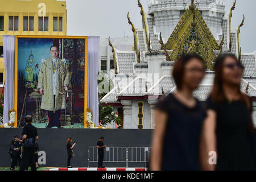
[[[42,94],[41,109],[47,111],[47,128],[60,128],[61,109],[66,108],[65,91],[69,84],[69,61],[59,58],[59,47],[51,46],[51,57],[42,60],[38,76],[38,89]]]

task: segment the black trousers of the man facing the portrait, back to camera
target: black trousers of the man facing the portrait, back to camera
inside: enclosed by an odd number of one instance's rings
[[[31,167],[31,171],[36,171],[34,148],[24,148],[19,171],[24,171],[28,165]]]

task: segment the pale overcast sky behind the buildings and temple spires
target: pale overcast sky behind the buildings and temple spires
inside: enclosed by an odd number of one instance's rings
[[[142,28],[142,18],[137,0],[67,0],[67,34],[108,36],[116,38],[133,36],[127,23],[127,11],[135,27]],[[147,12],[147,0],[141,0]],[[233,0],[226,0],[226,12],[233,5]],[[256,50],[256,1],[237,0],[233,11],[232,29],[237,29],[245,14],[245,23],[241,28],[240,42],[242,53]]]

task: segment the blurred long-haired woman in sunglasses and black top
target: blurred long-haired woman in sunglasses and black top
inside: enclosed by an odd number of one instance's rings
[[[217,58],[214,67],[214,85],[203,126],[202,167],[220,171],[253,170],[251,104],[240,89],[243,66],[236,56],[224,54]],[[209,164],[211,151],[217,154],[216,166]]]

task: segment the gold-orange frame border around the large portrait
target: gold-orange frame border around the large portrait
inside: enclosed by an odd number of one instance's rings
[[[85,40],[85,70],[84,70],[84,128],[87,128],[86,124],[86,109],[88,107],[88,36],[36,36],[36,35],[15,35],[15,77],[14,77],[14,109],[15,109],[15,123],[17,127],[18,123],[18,39],[19,38],[42,38],[42,39],[84,39]]]

